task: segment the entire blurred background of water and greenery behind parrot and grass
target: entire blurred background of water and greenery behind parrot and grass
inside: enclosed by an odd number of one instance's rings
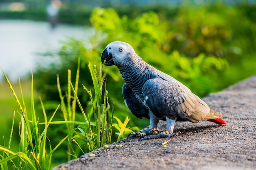
[[[38,117],[43,115],[38,97],[51,115],[60,104],[56,75],[65,94],[67,69],[74,81],[79,57],[78,95],[87,107],[90,98],[82,84],[93,91],[88,62],[99,68],[101,52],[112,41],[128,42],[150,65],[204,97],[256,73],[256,2],[0,0],[0,66],[18,97],[20,78],[28,110],[33,72]],[[103,67],[103,72],[109,98],[115,102],[114,115],[122,121],[128,116],[129,127],[148,126],[148,120],[139,120],[124,105],[124,82],[117,68]],[[0,74],[0,145],[8,142],[14,111],[17,113],[18,106]],[[18,148],[20,119],[16,117],[12,144]],[[63,119],[61,113],[56,113],[56,119]],[[54,139],[57,133],[66,135],[63,126],[54,126],[49,134],[53,144],[59,141]],[[57,153],[56,164],[67,161],[65,144]]]

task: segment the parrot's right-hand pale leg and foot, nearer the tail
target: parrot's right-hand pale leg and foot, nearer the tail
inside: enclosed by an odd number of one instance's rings
[[[167,130],[162,131],[161,133],[157,135],[148,135],[148,136],[141,136],[139,139],[158,139],[158,138],[163,138],[163,137],[173,137],[173,136],[178,136],[181,134],[181,132],[176,132],[173,133],[174,125],[176,120],[174,119],[169,119],[166,117],[166,122],[167,122]]]

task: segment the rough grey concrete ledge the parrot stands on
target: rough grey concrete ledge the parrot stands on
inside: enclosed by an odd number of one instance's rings
[[[255,170],[256,75],[203,100],[222,112],[227,126],[208,121],[176,122],[174,131],[182,132],[177,137],[124,139],[53,169]],[[166,122],[159,125],[163,129]]]

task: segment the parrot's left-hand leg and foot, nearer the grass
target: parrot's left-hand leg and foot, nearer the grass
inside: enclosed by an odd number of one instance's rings
[[[151,111],[149,111],[148,116],[150,118],[150,129],[146,129],[144,131],[139,131],[137,133],[130,133],[128,138],[132,137],[141,137],[146,135],[157,135],[160,131],[157,128],[157,124],[159,122],[159,118],[157,118]]]

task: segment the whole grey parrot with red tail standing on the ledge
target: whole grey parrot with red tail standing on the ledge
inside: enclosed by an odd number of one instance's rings
[[[177,136],[173,133],[176,121],[198,123],[208,120],[226,124],[219,112],[211,109],[191,90],[149,65],[139,57],[130,44],[114,41],[101,54],[104,65],[116,65],[125,83],[122,88],[124,102],[138,118],[150,119],[150,129],[132,133],[129,137],[156,139]],[[157,128],[159,120],[167,122],[166,130]]]

